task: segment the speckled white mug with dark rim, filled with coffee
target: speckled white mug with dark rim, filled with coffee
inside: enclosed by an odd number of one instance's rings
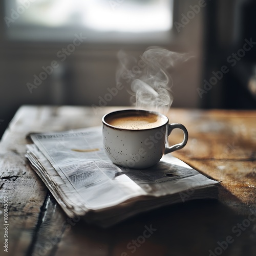
[[[156,164],[164,154],[183,148],[188,139],[186,127],[169,123],[158,112],[120,110],[102,117],[103,145],[106,154],[117,165],[128,168],[147,168]],[[183,141],[166,146],[174,129],[181,129]]]

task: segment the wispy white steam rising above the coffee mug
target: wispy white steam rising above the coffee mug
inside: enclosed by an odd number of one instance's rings
[[[170,90],[173,80],[169,71],[190,57],[184,53],[150,47],[137,60],[120,51],[116,79],[117,82],[124,80],[131,86],[131,102],[137,108],[165,113],[173,103]]]

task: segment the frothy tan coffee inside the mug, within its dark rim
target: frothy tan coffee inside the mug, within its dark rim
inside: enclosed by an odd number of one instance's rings
[[[111,115],[106,120],[110,125],[120,129],[145,130],[163,125],[166,120],[153,113],[131,112]]]

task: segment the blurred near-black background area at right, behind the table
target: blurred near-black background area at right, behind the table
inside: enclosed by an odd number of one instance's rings
[[[205,95],[201,106],[255,109],[256,2],[227,2],[212,1],[206,6],[203,75],[209,81],[212,71],[220,71],[223,66],[229,71],[218,80],[214,90]],[[243,47],[247,40],[255,45],[246,52]]]

